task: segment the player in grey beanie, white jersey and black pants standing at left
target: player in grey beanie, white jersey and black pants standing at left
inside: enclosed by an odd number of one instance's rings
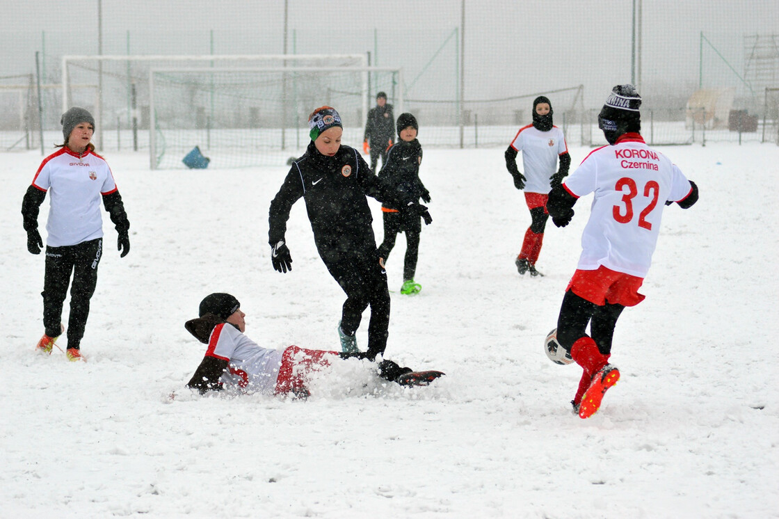
[[[49,155],[27,188],[22,202],[27,250],[40,254],[43,247],[38,232],[38,210],[49,193],[46,230],[46,266],[44,274],[44,336],[37,351],[51,354],[62,334],[62,304],[68,295],[70,274],[70,316],[68,348],[71,361],[83,360],[80,343],[90,313],[90,298],[97,285],[97,265],[103,253],[103,220],[100,199],[118,232],[118,250],[125,257],[130,251],[127,220],[122,196],[114,175],[103,157],[94,153],[90,142],[94,118],[89,111],[73,107],[62,115],[65,143]]]

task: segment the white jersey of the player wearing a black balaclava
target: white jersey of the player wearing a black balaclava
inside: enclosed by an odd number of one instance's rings
[[[541,132],[534,125],[523,126],[511,147],[522,152],[522,173],[527,179],[524,191],[546,195],[552,189],[549,177],[557,172],[557,157],[568,152],[562,130],[552,126],[548,132]]]

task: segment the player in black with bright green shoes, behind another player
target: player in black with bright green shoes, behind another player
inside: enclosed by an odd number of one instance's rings
[[[430,192],[419,179],[419,164],[422,163],[422,147],[417,140],[419,125],[417,118],[411,114],[400,114],[397,118],[397,144],[390,148],[387,161],[379,172],[382,182],[392,185],[402,192],[404,196],[428,203]],[[419,234],[421,222],[417,214],[409,212],[401,213],[392,203],[382,203],[384,215],[384,242],[379,246],[379,258],[386,262],[395,246],[397,233],[406,233],[406,256],[403,267],[403,286],[401,294],[416,294],[421,290],[421,285],[414,282],[414,274],[417,270],[417,256],[419,253]]]

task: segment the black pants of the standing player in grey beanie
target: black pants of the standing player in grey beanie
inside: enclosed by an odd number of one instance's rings
[[[44,329],[49,337],[58,337],[62,322],[62,304],[68,295],[70,274],[70,316],[68,348],[79,348],[84,336],[86,318],[90,315],[90,298],[97,286],[97,265],[103,253],[103,238],[65,247],[46,247],[44,274]]]

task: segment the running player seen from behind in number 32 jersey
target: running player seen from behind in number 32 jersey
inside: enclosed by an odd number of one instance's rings
[[[552,189],[547,203],[554,224],[565,227],[576,200],[594,193],[579,264],[557,321],[559,344],[583,368],[571,402],[581,418],[593,415],[619,380],[619,369],[608,364],[614,328],[626,306],[643,301],[638,289],[650,267],[664,207],[676,202],[687,209],[698,199],[695,183],[644,143],[640,105],[633,85],[613,88],[598,115],[609,146],[587,155]]]

